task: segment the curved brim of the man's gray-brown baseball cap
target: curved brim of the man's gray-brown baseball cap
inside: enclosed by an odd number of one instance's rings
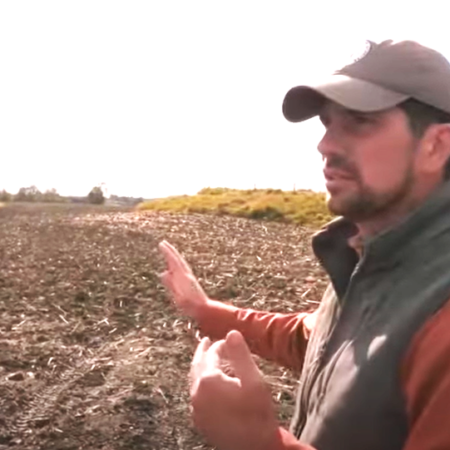
[[[368,81],[335,74],[323,82],[292,88],[284,98],[283,114],[290,122],[302,122],[317,116],[326,100],[355,111],[374,112],[393,108],[408,98]]]

